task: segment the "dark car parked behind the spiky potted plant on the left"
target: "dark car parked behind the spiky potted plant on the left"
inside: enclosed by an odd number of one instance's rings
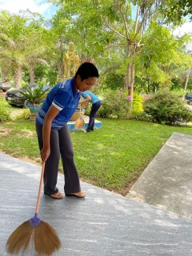
[[[10,90],[7,90],[6,92],[6,102],[8,102],[11,106],[23,106],[25,109],[28,108],[28,101],[26,98],[20,94],[20,90],[25,89],[26,87],[30,87],[31,90],[34,90],[34,88],[38,87],[38,85],[30,84],[27,86],[23,86],[20,89],[13,88]],[[50,86],[43,86],[42,90],[51,89]],[[42,102],[44,102],[45,99],[42,98]]]

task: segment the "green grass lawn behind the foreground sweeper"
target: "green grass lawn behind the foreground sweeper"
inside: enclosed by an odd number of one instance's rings
[[[15,108],[14,108],[15,109]],[[125,195],[173,132],[192,135],[190,127],[102,119],[102,129],[71,132],[74,161],[82,181]],[[34,123],[0,122],[0,150],[40,162]],[[59,170],[62,170],[60,162]]]

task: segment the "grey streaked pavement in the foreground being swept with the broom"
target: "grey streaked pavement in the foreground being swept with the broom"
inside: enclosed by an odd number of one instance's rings
[[[174,165],[175,159],[171,161]],[[34,217],[40,174],[41,167],[0,154],[1,256],[8,255],[6,240],[10,234]],[[58,174],[62,193],[63,186],[63,175]],[[42,194],[38,216],[57,230],[62,242],[54,255],[192,255],[190,220],[85,182],[82,190],[86,198],[55,200]],[[34,250],[25,254],[30,255],[37,256]]]

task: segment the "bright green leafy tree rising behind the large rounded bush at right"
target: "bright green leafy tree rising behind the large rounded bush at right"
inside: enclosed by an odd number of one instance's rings
[[[190,54],[186,54],[184,47],[190,41],[190,35],[178,37],[171,34],[168,27],[150,22],[136,67],[137,76],[146,80],[148,92],[154,91],[154,87],[170,86],[181,71],[185,72],[191,66]]]

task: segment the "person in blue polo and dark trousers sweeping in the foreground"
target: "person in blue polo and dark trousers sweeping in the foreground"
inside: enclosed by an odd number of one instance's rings
[[[78,106],[81,92],[90,90],[98,78],[98,69],[90,62],[79,66],[74,78],[59,82],[46,97],[36,117],[36,132],[42,162],[46,162],[43,177],[44,194],[61,199],[57,188],[58,163],[61,155],[66,196],[84,198],[78,171],[74,164],[74,149],[67,122]]]

